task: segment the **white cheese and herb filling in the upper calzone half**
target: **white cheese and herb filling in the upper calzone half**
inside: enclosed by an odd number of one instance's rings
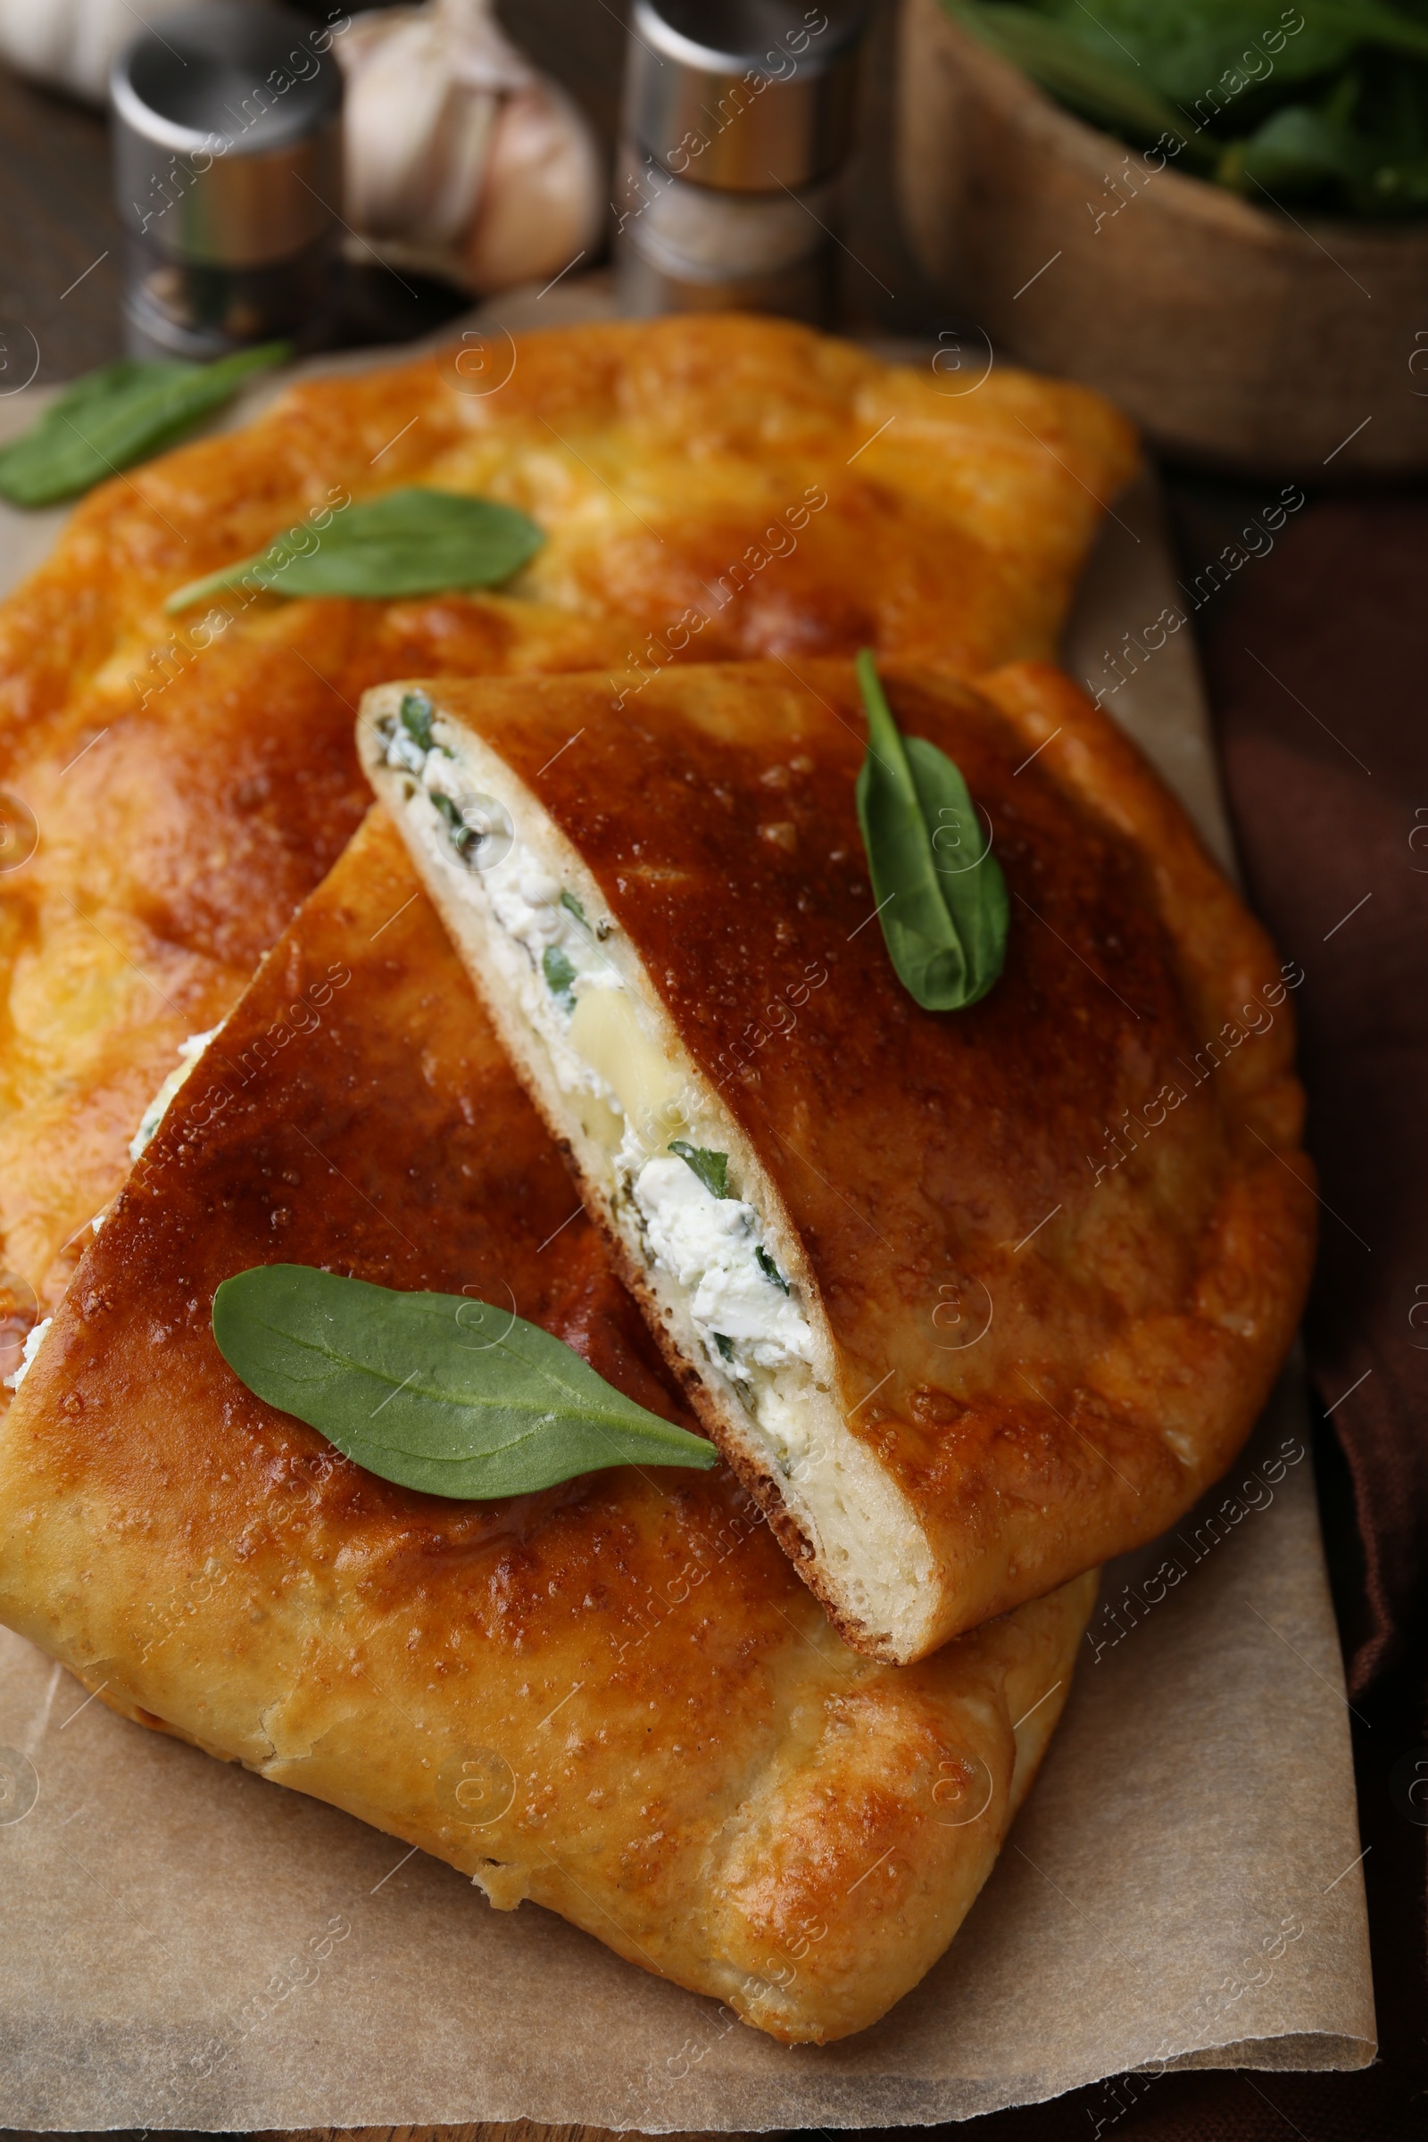
[[[516,840],[503,805],[462,784],[456,758],[430,733],[432,745],[422,748],[392,720],[388,765],[420,775],[426,797],[452,805],[441,810],[447,842],[469,865],[458,883],[471,897],[484,895],[499,925],[492,955],[546,1043],[561,1090],[584,1092],[610,1112],[604,1144],[617,1204],[636,1217],[651,1262],[687,1292],[711,1367],[762,1416],[771,1371],[814,1360],[814,1334],[764,1242],[762,1219],[713,1187],[728,1189],[728,1155],[704,1148],[698,1097],[670,1092],[674,1071],[642,1035],[632,994],[604,951],[614,923],[584,912]],[[707,1135],[717,1140],[713,1129]]]

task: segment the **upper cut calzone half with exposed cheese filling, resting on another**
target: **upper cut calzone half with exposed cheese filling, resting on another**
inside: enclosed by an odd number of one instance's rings
[[[925,1011],[846,664],[383,685],[360,748],[689,1399],[848,1643],[914,1660],[1154,1538],[1312,1253],[1291,990],[1064,677],[891,668],[1008,889]]]

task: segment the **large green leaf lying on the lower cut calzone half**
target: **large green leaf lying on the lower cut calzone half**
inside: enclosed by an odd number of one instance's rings
[[[490,1502],[606,1465],[717,1463],[537,1324],[462,1294],[263,1264],[214,1294],[214,1339],[268,1405],[424,1495]]]

